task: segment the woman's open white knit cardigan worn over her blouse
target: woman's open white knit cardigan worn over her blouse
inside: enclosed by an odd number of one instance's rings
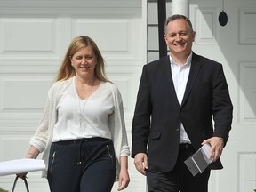
[[[29,141],[29,144],[36,147],[40,152],[44,151],[42,158],[46,164],[46,170],[48,168],[48,159],[50,153],[50,147],[52,145],[52,132],[53,127],[57,122],[57,110],[56,107],[60,100],[60,94],[65,88],[68,81],[72,81],[71,77],[66,81],[58,81],[52,84],[48,92],[48,98],[46,106],[44,108],[44,115],[38,124],[35,135]],[[111,92],[114,99],[115,113],[108,120],[108,126],[111,132],[114,148],[116,152],[116,179],[118,178],[120,171],[120,156],[129,156],[130,150],[127,141],[127,134],[124,124],[124,108],[123,101],[120,92],[115,84],[107,83],[111,88]],[[42,177],[47,177],[47,171],[42,172]]]

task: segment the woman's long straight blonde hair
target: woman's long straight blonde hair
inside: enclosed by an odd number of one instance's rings
[[[105,60],[103,59],[97,44],[95,44],[95,42],[89,36],[76,36],[72,40],[60,66],[56,79],[57,81],[67,80],[68,78],[76,75],[75,69],[71,66],[70,58],[72,58],[76,52],[84,49],[84,47],[87,46],[92,46],[92,50],[96,55],[97,65],[95,65],[94,69],[96,78],[103,82],[110,82],[105,75]]]

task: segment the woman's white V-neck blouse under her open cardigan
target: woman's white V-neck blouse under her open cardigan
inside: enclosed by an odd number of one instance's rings
[[[73,78],[60,95],[52,142],[92,137],[111,139],[108,118],[114,113],[114,108],[107,83],[101,82],[86,100],[81,100],[76,92],[76,78]]]

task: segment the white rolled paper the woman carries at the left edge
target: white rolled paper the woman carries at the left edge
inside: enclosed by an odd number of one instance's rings
[[[44,160],[16,159],[0,162],[0,176],[45,170]]]

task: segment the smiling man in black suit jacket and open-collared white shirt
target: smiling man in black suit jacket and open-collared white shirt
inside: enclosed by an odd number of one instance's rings
[[[132,122],[132,157],[148,190],[207,192],[231,129],[233,106],[220,63],[192,52],[196,32],[183,15],[165,23],[171,52],[143,67]],[[212,124],[214,120],[214,128]],[[195,177],[184,161],[205,143],[213,157]]]

